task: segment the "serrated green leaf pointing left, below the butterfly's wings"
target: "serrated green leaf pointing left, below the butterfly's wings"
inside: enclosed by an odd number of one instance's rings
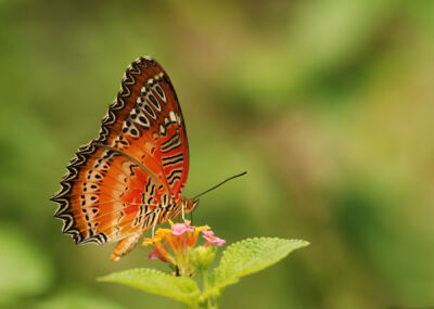
[[[197,304],[200,296],[197,284],[192,279],[169,275],[155,269],[130,269],[101,276],[98,281],[125,284],[188,306]]]

